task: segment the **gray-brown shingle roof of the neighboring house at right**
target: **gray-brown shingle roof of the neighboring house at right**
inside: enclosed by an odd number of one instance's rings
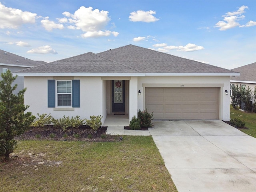
[[[230,80],[256,82],[256,62],[242,67],[234,68],[232,71],[240,73],[240,76],[231,76]]]

